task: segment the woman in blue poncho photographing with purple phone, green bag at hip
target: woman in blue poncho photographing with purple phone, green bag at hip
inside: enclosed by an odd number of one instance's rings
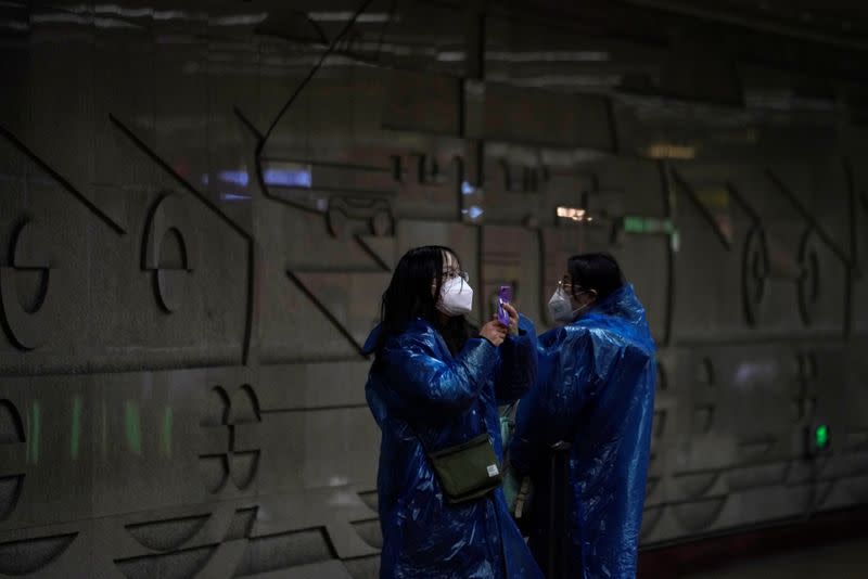
[[[455,252],[401,257],[383,294],[366,395],[382,430],[381,578],[538,578],[499,488],[497,404],[536,378],[533,325],[509,306],[476,331]]]

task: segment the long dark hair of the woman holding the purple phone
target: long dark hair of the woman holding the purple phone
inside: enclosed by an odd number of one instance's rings
[[[442,323],[437,311],[446,254],[451,254],[460,262],[452,249],[442,245],[416,247],[400,258],[392,274],[392,282],[383,293],[380,308],[382,332],[376,344],[378,351],[390,336],[404,333],[408,324],[417,318],[426,320],[437,329],[452,355],[464,347],[474,327],[463,316],[451,317],[446,323]]]

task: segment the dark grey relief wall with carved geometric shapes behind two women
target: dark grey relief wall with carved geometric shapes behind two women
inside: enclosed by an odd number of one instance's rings
[[[429,243],[540,331],[567,256],[622,261],[661,348],[644,544],[868,501],[834,99],[497,3],[155,4],[0,3],[1,576],[374,577],[360,346]]]

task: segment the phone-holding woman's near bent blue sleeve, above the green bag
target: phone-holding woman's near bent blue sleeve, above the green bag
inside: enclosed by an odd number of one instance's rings
[[[434,342],[405,335],[386,349],[387,382],[409,409],[461,413],[476,400],[497,364],[497,350],[485,338],[471,338],[451,360],[437,358]]]

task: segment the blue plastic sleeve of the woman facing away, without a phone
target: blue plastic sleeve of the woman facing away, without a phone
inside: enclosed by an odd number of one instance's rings
[[[539,337],[537,383],[519,402],[510,464],[529,473],[545,449],[571,440],[582,408],[597,382],[593,343],[586,330],[560,327]]]

